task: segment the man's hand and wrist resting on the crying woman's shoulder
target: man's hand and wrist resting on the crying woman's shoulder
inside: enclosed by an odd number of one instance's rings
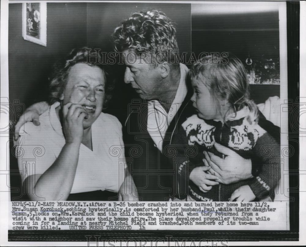
[[[24,114],[19,118],[16,126],[15,126],[15,134],[14,139],[15,141],[19,137],[19,131],[22,125],[26,122],[33,122],[34,125],[40,125],[39,122],[39,115],[43,114],[46,110],[48,110],[49,104],[46,101],[36,103],[30,106]]]

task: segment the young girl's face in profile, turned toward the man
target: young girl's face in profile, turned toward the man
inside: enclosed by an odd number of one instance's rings
[[[191,100],[193,106],[198,111],[198,117],[203,119],[219,119],[222,120],[220,112],[217,109],[215,100],[212,98],[209,88],[206,86],[204,77],[192,78],[191,84],[193,95]]]

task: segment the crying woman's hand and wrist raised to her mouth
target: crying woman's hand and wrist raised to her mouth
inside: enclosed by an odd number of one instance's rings
[[[80,144],[83,139],[83,120],[88,117],[86,110],[79,104],[67,103],[63,107],[63,131],[66,143]]]

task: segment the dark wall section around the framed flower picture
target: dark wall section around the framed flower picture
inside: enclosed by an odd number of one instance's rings
[[[46,100],[52,64],[86,45],[86,3],[47,3],[47,47],[22,37],[22,4],[9,4],[9,99],[26,107]]]

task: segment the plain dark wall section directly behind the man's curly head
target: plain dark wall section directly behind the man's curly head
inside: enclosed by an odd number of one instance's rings
[[[177,25],[179,50],[191,51],[191,5],[170,3],[88,3],[87,40],[88,46],[113,51],[110,35],[117,25],[133,13],[157,9],[166,14]]]

